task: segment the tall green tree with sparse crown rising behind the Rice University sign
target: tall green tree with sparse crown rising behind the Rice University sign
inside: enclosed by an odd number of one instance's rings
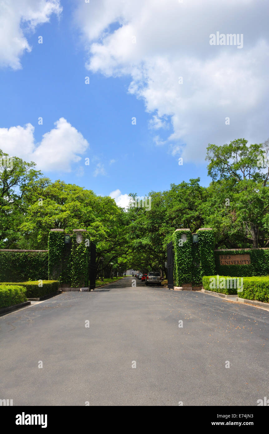
[[[245,139],[223,146],[208,145],[207,168],[213,182],[208,188],[204,214],[207,224],[215,229],[219,245],[267,245],[269,189],[268,171],[263,171],[265,148],[262,143],[248,146]]]

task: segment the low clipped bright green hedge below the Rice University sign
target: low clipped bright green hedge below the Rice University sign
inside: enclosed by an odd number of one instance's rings
[[[217,276],[204,276],[203,286],[208,291],[214,291],[222,294],[237,294],[236,288],[210,288],[210,278]],[[237,279],[237,277],[219,276],[226,279]],[[238,276],[241,277],[241,276]],[[238,296],[247,300],[257,300],[269,302],[269,276],[251,276],[243,277],[243,291],[238,293]]]

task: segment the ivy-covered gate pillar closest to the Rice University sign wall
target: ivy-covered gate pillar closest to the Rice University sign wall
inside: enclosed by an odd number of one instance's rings
[[[198,249],[200,254],[200,279],[203,276],[214,276],[215,273],[215,240],[211,227],[198,229]]]

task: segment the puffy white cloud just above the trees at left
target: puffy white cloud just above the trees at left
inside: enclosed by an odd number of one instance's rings
[[[88,148],[88,141],[78,130],[60,118],[55,128],[45,133],[35,144],[35,128],[29,123],[24,127],[0,128],[0,149],[25,161],[34,161],[43,171],[71,171],[71,164],[81,161]]]

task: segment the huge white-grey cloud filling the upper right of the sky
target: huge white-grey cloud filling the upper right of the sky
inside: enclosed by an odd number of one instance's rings
[[[209,142],[268,136],[267,12],[263,0],[137,0],[135,7],[131,0],[100,0],[82,2],[76,20],[86,67],[130,76],[129,92],[144,100],[150,126],[163,128],[161,120],[171,119],[172,153],[204,161]],[[243,48],[211,46],[209,35],[217,31],[243,33]]]

